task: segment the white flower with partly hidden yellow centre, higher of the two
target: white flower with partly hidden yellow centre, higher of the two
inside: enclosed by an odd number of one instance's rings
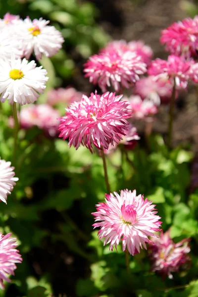
[[[53,26],[48,26],[49,21],[26,18],[17,27],[17,39],[23,40],[24,56],[29,59],[34,51],[39,60],[42,55],[51,57],[62,48],[64,39],[61,33]]]

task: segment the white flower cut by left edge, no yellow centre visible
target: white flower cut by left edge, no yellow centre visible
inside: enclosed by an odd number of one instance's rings
[[[11,194],[15,182],[18,177],[15,176],[14,167],[11,167],[11,162],[6,162],[0,159],[0,200],[7,204],[7,195]]]

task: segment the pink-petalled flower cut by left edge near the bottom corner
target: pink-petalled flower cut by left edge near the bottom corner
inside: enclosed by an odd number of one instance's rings
[[[14,275],[17,268],[15,263],[21,263],[22,258],[16,249],[16,238],[11,237],[11,233],[2,235],[0,233],[0,288],[4,289],[3,281],[11,282],[9,274]]]

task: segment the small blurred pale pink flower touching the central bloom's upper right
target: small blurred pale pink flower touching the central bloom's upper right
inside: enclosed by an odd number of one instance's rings
[[[127,100],[130,103],[134,118],[144,119],[158,112],[157,106],[153,101],[148,99],[142,100],[140,96],[124,97],[123,100]]]

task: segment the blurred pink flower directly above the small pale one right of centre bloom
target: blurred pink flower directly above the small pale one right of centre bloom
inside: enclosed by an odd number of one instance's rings
[[[154,104],[169,103],[173,86],[168,80],[159,79],[154,76],[141,78],[135,85],[135,93],[142,99],[149,99]]]

